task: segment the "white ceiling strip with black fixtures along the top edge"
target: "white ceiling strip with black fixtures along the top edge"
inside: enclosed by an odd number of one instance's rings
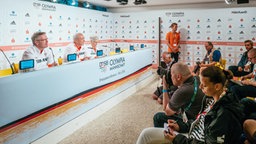
[[[150,7],[150,6],[166,6],[178,4],[205,4],[205,3],[220,3],[225,4],[225,0],[146,0],[147,4],[134,5],[135,0],[128,0],[127,5],[120,5],[116,0],[79,0],[80,2],[89,2],[93,5],[103,6],[106,8],[122,8],[122,7]]]

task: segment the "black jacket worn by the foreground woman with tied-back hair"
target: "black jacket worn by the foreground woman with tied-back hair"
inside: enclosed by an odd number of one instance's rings
[[[204,98],[202,108],[205,107],[205,100],[207,98]],[[205,116],[204,142],[178,134],[173,144],[238,144],[242,134],[242,119],[243,111],[238,99],[231,93],[226,93]]]

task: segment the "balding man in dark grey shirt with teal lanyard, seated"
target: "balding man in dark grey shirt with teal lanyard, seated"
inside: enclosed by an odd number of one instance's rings
[[[166,78],[163,76],[163,110],[154,115],[154,127],[163,127],[168,119],[178,122],[195,119],[201,108],[203,92],[199,89],[198,77],[193,77],[188,65],[178,62],[171,67],[171,79],[178,89],[168,93]]]

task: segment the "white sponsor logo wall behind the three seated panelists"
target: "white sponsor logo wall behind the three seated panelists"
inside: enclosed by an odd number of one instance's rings
[[[23,51],[32,44],[30,38],[35,31],[47,33],[56,58],[63,55],[63,49],[73,41],[77,32],[84,34],[88,46],[90,36],[97,35],[105,42],[113,36],[113,16],[107,12],[42,1],[20,3],[14,0],[1,5],[0,15],[0,48],[14,63],[19,62]],[[103,42],[100,41],[99,49],[107,51],[107,47],[102,47]],[[0,70],[9,68],[2,53],[0,61]]]

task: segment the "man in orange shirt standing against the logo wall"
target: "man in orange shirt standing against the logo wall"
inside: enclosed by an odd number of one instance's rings
[[[171,57],[175,62],[179,60],[179,48],[180,48],[180,33],[177,32],[178,24],[172,23],[170,32],[166,34],[166,40],[168,45],[168,52],[171,54]]]

